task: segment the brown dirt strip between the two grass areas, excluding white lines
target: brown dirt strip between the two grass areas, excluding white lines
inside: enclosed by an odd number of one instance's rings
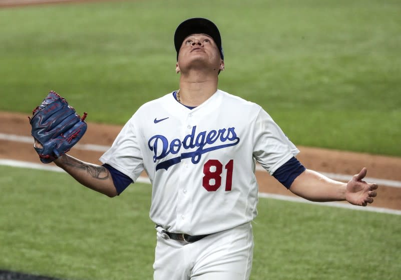
[[[28,115],[11,112],[0,112],[0,133],[30,136],[31,126]],[[99,144],[110,146],[120,131],[121,126],[98,123],[88,124],[88,130],[81,139],[81,144]],[[366,153],[346,152],[298,146],[298,159],[309,169],[339,174],[355,174],[365,166],[367,176],[401,181],[401,158]],[[100,163],[98,160],[103,152],[83,150],[74,147],[69,154],[82,160]],[[32,143],[0,139],[0,158],[17,159],[40,163]],[[52,163],[53,164],[53,163]],[[257,171],[260,190],[276,194],[293,194],[278,183],[266,171]],[[377,207],[401,209],[401,188],[380,185],[378,195],[373,203]]]

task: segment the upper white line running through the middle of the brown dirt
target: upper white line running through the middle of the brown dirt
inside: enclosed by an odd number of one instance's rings
[[[15,135],[15,134],[0,133],[0,140],[9,140],[9,141],[17,141],[17,142],[33,144],[32,136],[21,136],[21,135]],[[74,148],[82,149],[82,150],[93,150],[93,151],[105,152],[106,150],[109,149],[109,146],[96,145],[96,144],[79,144],[78,143],[74,146]],[[257,171],[266,171],[260,165],[256,165],[256,170]],[[333,180],[349,181],[352,178],[352,175],[347,175],[347,174],[328,173],[328,172],[321,172],[321,171],[318,171],[318,172],[325,175],[326,177],[329,177],[330,179],[333,179]],[[365,177],[364,180],[368,181],[368,182],[375,182],[378,185],[401,187],[401,181],[387,180],[387,179],[380,179],[380,178],[373,178],[373,177]]]

